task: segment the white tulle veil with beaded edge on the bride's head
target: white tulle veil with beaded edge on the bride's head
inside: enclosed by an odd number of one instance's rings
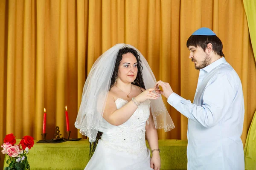
[[[81,105],[76,118],[75,126],[80,129],[82,135],[88,136],[90,142],[94,142],[101,127],[102,115],[111,85],[111,77],[115,67],[116,57],[120,48],[132,45],[116,44],[108,49],[94,62],[90,73],[85,81]],[[141,66],[143,67],[143,81],[145,88],[153,88],[156,79],[154,77],[148,62],[140,53]],[[151,112],[154,119],[154,125],[157,129],[165,131],[175,128],[172,119],[163,103],[162,97],[151,100]]]

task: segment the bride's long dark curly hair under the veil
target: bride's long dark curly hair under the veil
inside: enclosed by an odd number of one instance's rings
[[[127,54],[127,53],[133,54],[135,56],[135,58],[137,59],[138,73],[137,73],[136,79],[131,84],[139,86],[140,90],[142,91],[141,88],[145,89],[145,85],[144,85],[143,75],[142,75],[143,67],[141,66],[140,55],[138,54],[138,52],[134,48],[128,48],[128,47],[121,48],[119,50],[118,54],[117,54],[115,68],[114,68],[114,71],[113,71],[113,74],[112,74],[112,77],[111,77],[110,89],[113,87],[114,83],[116,82],[117,74],[118,74],[118,68],[119,68],[120,62],[122,60],[122,55]],[[101,136],[102,136],[102,132],[98,132],[98,134],[96,136],[96,141],[90,143],[90,153],[89,153],[90,158],[93,156],[93,153],[96,149],[96,146],[98,144],[99,139],[101,139]]]

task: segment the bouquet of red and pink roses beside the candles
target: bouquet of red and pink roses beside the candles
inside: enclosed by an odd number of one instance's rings
[[[31,136],[24,136],[20,143],[15,145],[15,136],[11,133],[6,135],[3,140],[2,153],[8,155],[6,163],[9,165],[4,170],[30,170],[27,154],[31,147],[34,146],[34,138]]]

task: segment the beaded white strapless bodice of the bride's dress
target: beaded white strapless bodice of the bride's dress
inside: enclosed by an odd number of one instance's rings
[[[117,109],[128,103],[127,100],[116,99]],[[107,147],[128,153],[142,153],[146,150],[145,126],[150,115],[150,100],[141,103],[134,114],[125,123],[114,126],[102,119],[99,131],[103,132],[101,141]]]

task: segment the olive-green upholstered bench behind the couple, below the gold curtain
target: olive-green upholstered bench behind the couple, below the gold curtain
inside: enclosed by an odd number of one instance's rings
[[[31,170],[83,170],[89,161],[87,139],[57,144],[36,142],[28,154]],[[186,146],[186,140],[159,140],[161,170],[186,170]],[[4,163],[6,166],[6,160]]]

